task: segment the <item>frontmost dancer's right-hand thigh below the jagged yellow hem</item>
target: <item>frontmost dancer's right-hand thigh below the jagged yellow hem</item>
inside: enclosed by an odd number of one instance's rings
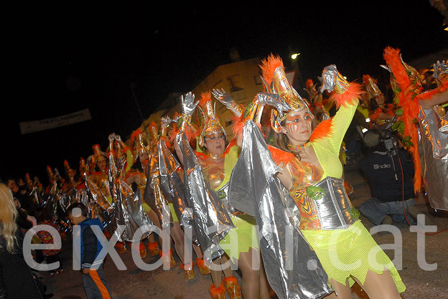
[[[383,274],[377,274],[372,270],[367,272],[365,276],[364,285],[361,285],[359,280],[354,280],[367,293],[370,299],[400,299],[394,279],[389,270],[384,269]]]

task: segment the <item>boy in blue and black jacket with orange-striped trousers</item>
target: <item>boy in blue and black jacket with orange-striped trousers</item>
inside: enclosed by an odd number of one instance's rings
[[[67,208],[67,215],[72,224],[81,226],[80,253],[84,290],[88,299],[110,299],[112,296],[104,276],[103,259],[95,261],[103,245],[91,227],[98,225],[103,230],[103,224],[98,218],[88,218],[87,213],[87,207],[82,203],[75,203]]]

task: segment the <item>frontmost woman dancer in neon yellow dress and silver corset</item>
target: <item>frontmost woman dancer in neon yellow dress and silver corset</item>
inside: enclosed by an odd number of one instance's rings
[[[265,86],[269,93],[262,95],[277,108],[271,121],[278,149],[270,148],[280,167],[277,177],[296,202],[300,229],[336,291],[337,297],[328,298],[351,298],[350,286],[355,281],[370,298],[400,298],[405,286],[395,266],[356,219],[359,212],[339,180],[339,149],[358,104],[360,86],[348,83],[336,66],[326,67],[322,90],[335,90],[331,99],[339,110],[314,129],[313,115],[288,83],[282,60],[270,56],[261,68],[264,81],[270,84]],[[261,106],[257,101],[251,110]]]

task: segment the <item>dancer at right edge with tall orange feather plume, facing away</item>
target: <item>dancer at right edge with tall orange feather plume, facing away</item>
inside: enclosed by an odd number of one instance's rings
[[[423,179],[431,207],[448,210],[448,116],[436,113],[435,106],[448,100],[448,66],[445,61],[434,65],[438,87],[423,92],[420,74],[401,59],[399,49],[387,47],[383,57],[400,106],[392,128],[414,158],[414,191],[420,192]]]

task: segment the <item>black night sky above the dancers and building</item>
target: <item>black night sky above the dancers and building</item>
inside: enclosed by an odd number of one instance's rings
[[[187,92],[229,63],[232,47],[241,59],[279,54],[287,68],[290,49],[300,52],[304,80],[315,82],[329,64],[349,80],[385,77],[379,65],[388,45],[400,48],[407,62],[448,47],[444,17],[428,0],[302,2],[15,12],[3,43],[12,69],[3,85],[9,96],[2,100],[0,177],[28,171],[46,182],[46,165],[63,173],[64,159],[78,169],[92,145],[106,149],[110,133],[126,140],[141,124],[131,83],[147,118],[169,93]],[[21,121],[85,108],[90,121],[20,135]]]

